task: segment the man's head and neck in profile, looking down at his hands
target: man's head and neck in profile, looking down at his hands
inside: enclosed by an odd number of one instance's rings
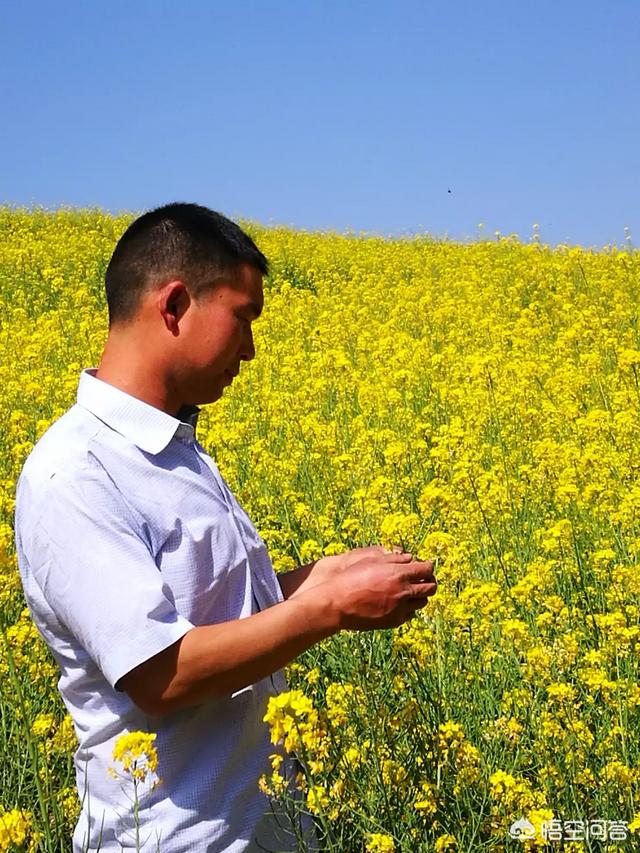
[[[219,399],[255,355],[266,272],[253,240],[219,213],[195,204],[145,213],[107,268],[98,378],[171,413]]]

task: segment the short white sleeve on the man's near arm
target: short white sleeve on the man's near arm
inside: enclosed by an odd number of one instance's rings
[[[143,524],[97,463],[57,472],[31,506],[22,540],[33,577],[112,687],[194,627],[175,609]]]

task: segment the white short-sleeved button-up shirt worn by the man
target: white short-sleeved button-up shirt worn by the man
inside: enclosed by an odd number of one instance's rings
[[[143,851],[155,853],[158,837],[161,853],[264,849],[255,832],[269,849],[257,781],[274,750],[262,717],[286,689],[282,674],[164,717],[115,689],[193,626],[282,601],[267,550],[193,423],[94,374],[82,372],[76,405],[33,449],[16,501],[25,595],[79,738],[74,853],[135,849],[133,788],[107,772],[115,740],[135,730],[157,733],[163,780],[142,798]]]

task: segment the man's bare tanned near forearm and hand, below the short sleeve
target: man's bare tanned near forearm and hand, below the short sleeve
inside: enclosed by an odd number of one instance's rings
[[[118,686],[146,713],[163,715],[260,681],[341,629],[391,628],[433,595],[430,562],[378,554],[331,582],[244,619],[192,628],[135,667]]]

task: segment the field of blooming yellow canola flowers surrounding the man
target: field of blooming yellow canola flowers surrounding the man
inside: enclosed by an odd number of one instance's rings
[[[99,361],[127,222],[0,209],[0,851],[70,849],[75,735],[13,499]],[[249,230],[271,262],[257,357],[200,441],[277,569],[375,542],[438,560],[419,617],[325,641],[270,707],[329,849],[635,849],[640,254]],[[261,784],[278,796],[277,758]]]

